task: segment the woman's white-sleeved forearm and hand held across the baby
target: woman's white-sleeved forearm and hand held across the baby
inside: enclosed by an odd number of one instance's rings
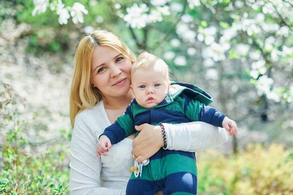
[[[168,150],[197,152],[219,147],[228,141],[225,129],[204,122],[163,125]],[[160,126],[143,124],[135,129],[141,132],[133,140],[131,153],[140,156],[133,158],[140,163],[158,152],[163,147],[164,141]]]

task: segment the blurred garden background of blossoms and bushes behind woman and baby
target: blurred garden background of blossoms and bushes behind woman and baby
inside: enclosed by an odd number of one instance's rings
[[[293,0],[1,0],[1,195],[69,194],[73,59],[94,29],[236,121],[196,153],[200,195],[293,195]]]

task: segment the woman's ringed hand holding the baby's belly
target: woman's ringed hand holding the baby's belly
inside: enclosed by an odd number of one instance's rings
[[[131,154],[133,160],[141,163],[158,152],[164,146],[164,140],[160,126],[145,123],[135,129],[141,132],[133,140]]]

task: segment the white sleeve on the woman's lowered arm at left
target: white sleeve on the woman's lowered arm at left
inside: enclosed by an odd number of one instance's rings
[[[70,195],[125,195],[126,189],[100,187],[102,162],[93,128],[101,129],[92,116],[77,115],[70,146]]]

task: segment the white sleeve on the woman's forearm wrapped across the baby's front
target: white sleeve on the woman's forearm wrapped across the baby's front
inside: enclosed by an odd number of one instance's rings
[[[181,124],[164,123],[167,149],[186,152],[198,152],[219,147],[228,141],[224,128],[218,128],[205,122]]]

